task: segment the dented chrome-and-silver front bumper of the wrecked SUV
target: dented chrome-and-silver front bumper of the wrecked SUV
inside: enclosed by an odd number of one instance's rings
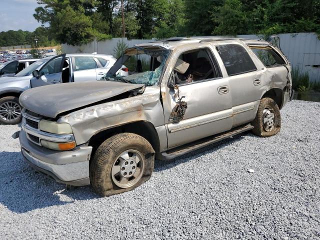
[[[91,146],[69,151],[55,151],[31,143],[25,131],[19,133],[21,153],[28,164],[57,182],[75,186],[90,184],[89,159]]]

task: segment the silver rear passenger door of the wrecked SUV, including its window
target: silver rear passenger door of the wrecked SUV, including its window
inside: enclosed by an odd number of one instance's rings
[[[230,84],[232,127],[250,122],[255,117],[263,91],[261,82],[265,70],[255,66],[246,48],[239,43],[219,44],[216,50],[222,59]]]

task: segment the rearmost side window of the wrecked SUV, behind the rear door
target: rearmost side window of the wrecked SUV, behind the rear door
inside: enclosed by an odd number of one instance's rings
[[[266,67],[285,64],[285,61],[271,47],[250,47]]]

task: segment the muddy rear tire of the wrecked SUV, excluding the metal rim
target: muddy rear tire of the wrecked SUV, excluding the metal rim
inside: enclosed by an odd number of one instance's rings
[[[263,126],[263,118],[264,118],[263,111],[266,108],[269,108],[274,113],[274,126],[270,131],[266,131],[265,127]],[[275,103],[275,101],[272,98],[265,97],[260,100],[258,111],[256,113],[254,120],[251,122],[251,124],[254,126],[254,128],[252,129],[252,132],[255,135],[261,136],[261,137],[273,136],[280,131],[280,128],[281,128],[280,110],[278,105]]]

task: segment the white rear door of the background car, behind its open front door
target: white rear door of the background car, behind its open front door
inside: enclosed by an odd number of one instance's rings
[[[92,56],[72,56],[74,81],[96,80],[97,63]]]

